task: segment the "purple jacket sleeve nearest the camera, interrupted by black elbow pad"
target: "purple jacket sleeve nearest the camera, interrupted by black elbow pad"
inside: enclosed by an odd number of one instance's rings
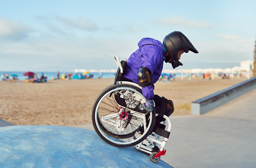
[[[155,45],[144,45],[140,48],[141,66],[147,67],[151,71],[151,79],[154,75],[154,70],[162,63],[162,51]],[[154,97],[154,85],[142,87],[142,94],[146,99],[153,99]]]

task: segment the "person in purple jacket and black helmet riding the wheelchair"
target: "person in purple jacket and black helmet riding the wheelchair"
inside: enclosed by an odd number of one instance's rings
[[[189,50],[194,53],[198,53],[198,51],[180,31],[173,31],[166,35],[163,38],[163,43],[153,38],[142,38],[138,42],[138,47],[129,56],[123,77],[142,87],[142,94],[146,99],[145,110],[151,112],[155,98],[154,83],[161,76],[163,61],[171,63],[174,69],[182,65],[179,62],[181,54],[187,53]],[[151,134],[151,136],[154,135]],[[133,139],[136,137],[134,136]],[[143,141],[141,147],[149,152],[159,151],[157,145],[148,139]]]

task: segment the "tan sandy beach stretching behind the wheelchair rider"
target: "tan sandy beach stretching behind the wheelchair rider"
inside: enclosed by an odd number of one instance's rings
[[[214,80],[176,78],[155,84],[154,94],[171,99],[175,115],[190,115],[191,102],[247,78]],[[0,81],[0,119],[15,125],[71,126],[91,123],[91,108],[97,95],[113,84],[113,78],[48,80],[47,83]]]

